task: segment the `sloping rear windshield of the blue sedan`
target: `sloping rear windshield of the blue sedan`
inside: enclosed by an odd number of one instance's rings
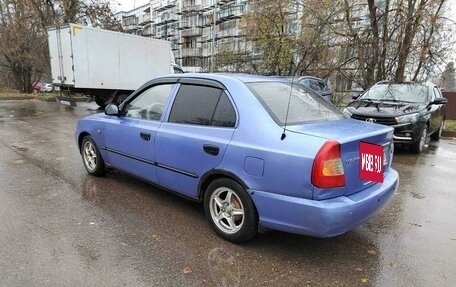
[[[343,114],[331,103],[291,82],[256,82],[247,86],[279,124],[337,120]],[[288,101],[290,102],[287,118]]]

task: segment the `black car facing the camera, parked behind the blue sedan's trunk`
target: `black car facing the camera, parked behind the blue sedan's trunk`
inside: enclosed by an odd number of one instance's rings
[[[354,98],[344,109],[347,116],[394,127],[394,142],[415,153],[442,134],[447,100],[433,83],[379,82]]]

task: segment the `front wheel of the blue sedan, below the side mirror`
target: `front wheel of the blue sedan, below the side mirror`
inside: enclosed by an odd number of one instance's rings
[[[102,176],[105,166],[100,150],[90,136],[85,136],[81,144],[81,155],[84,167],[90,175]]]

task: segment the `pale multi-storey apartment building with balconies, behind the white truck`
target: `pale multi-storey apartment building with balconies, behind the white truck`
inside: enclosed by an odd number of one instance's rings
[[[249,0],[151,0],[115,17],[127,33],[171,42],[176,62],[186,71],[215,70],[218,51],[251,51],[241,16]]]

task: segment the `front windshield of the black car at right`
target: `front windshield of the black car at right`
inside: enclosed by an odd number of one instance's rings
[[[372,86],[360,100],[425,103],[427,86],[419,83],[389,83]]]

